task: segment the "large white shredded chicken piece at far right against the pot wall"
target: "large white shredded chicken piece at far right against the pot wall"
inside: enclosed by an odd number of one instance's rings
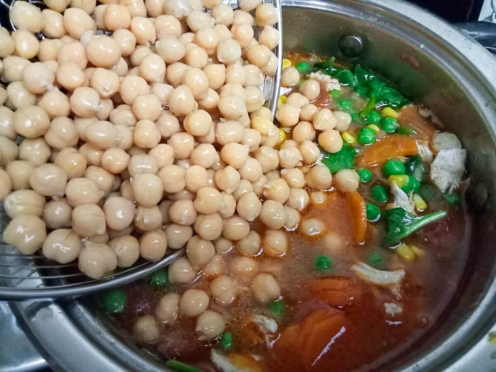
[[[431,164],[430,176],[434,185],[442,192],[451,192],[458,187],[465,173],[466,159],[465,149],[452,148],[439,151]]]

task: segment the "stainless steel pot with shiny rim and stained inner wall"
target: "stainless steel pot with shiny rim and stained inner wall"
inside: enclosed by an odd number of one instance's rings
[[[432,108],[469,153],[471,205],[478,212],[459,290],[438,324],[381,370],[493,371],[496,347],[487,334],[496,329],[496,60],[408,3],[283,0],[283,6],[286,51],[334,55],[378,71]],[[93,304],[23,302],[12,308],[56,370],[164,371]]]

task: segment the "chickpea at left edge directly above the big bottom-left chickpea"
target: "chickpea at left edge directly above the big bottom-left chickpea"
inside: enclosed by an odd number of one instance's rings
[[[4,171],[1,174],[5,175]],[[17,190],[4,197],[3,207],[10,218],[20,215],[40,217],[45,207],[45,197],[33,190]]]

